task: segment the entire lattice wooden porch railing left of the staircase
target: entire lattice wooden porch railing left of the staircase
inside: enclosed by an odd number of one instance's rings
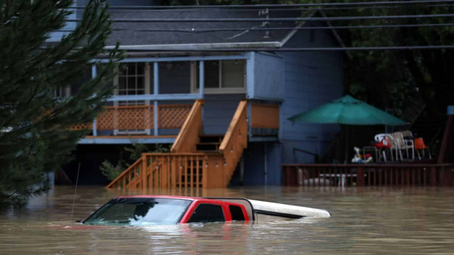
[[[160,105],[157,107],[158,128],[182,128],[191,105]],[[106,106],[96,118],[96,130],[145,130],[154,129],[154,106]],[[93,129],[93,123],[81,123],[74,130]]]

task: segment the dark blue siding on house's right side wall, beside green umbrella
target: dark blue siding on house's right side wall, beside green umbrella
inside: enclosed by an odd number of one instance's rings
[[[323,26],[323,24],[314,24]],[[311,33],[313,33],[311,35]],[[313,39],[313,40],[311,40]],[[329,30],[296,33],[285,47],[338,47]],[[343,52],[284,52],[284,97],[280,108],[282,163],[314,162],[294,148],[323,154],[338,132],[338,125],[292,123],[287,118],[309,111],[343,94]]]

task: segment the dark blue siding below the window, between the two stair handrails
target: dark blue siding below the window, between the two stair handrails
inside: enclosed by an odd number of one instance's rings
[[[206,95],[204,106],[204,134],[225,134],[245,94]]]

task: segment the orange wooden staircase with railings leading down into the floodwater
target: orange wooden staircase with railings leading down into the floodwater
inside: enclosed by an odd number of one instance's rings
[[[247,102],[240,101],[225,135],[201,135],[196,101],[170,153],[144,153],[106,188],[222,188],[248,145]]]

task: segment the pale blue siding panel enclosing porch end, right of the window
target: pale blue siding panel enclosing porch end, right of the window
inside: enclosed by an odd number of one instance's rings
[[[284,64],[282,57],[255,53],[253,98],[284,99]]]

